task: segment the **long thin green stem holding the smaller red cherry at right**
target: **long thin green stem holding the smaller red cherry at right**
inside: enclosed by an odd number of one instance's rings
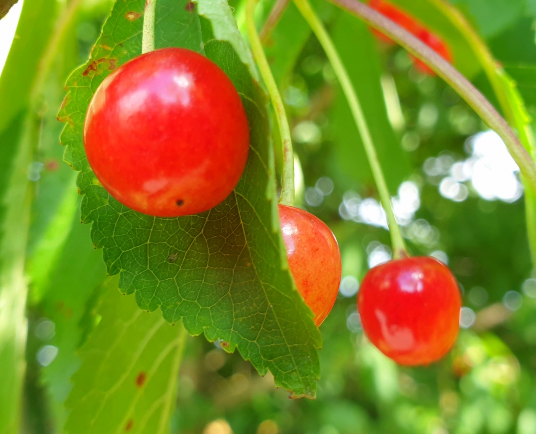
[[[359,134],[361,136],[361,140],[363,141],[367,159],[374,176],[379,199],[387,216],[389,230],[391,233],[393,258],[399,259],[406,257],[408,256],[407,250],[404,243],[404,238],[400,233],[400,228],[394,217],[393,208],[391,206],[391,195],[389,194],[389,189],[387,187],[387,183],[385,182],[385,177],[383,176],[382,167],[379,164],[378,155],[376,153],[376,148],[374,147],[373,139],[370,135],[367,121],[363,115],[363,110],[361,109],[358,96],[356,95],[355,89],[352,86],[352,81],[348,76],[348,72],[346,71],[343,62],[340,59],[339,53],[335,48],[333,41],[322,25],[322,21],[318,18],[315,11],[312,10],[309,2],[307,0],[294,0],[294,3],[322,45],[322,48],[324,49],[327,58],[333,67],[333,71],[335,72],[339,83],[343,88],[346,99],[348,100],[350,110],[352,111],[352,116],[354,117],[354,121],[358,126]]]

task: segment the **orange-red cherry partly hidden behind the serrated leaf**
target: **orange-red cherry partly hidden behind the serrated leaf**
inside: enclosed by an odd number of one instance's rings
[[[319,326],[333,308],[339,292],[339,245],[331,229],[303,209],[279,205],[279,219],[296,288]]]

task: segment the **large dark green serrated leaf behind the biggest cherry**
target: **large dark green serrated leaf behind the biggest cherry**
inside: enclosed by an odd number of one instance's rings
[[[245,48],[229,23],[226,2],[198,2],[200,12],[220,17],[214,21],[186,4],[158,2],[155,43],[158,48],[199,50],[233,80],[251,130],[242,179],[224,203],[177,219],[136,213],[99,185],[84,154],[84,114],[102,79],[138,55],[141,45],[143,1],[116,3],[92,60],[69,78],[59,114],[68,123],[62,134],[65,159],[81,170],[83,221],[93,221],[93,243],[104,249],[108,272],[121,273],[121,290],[136,293],[140,308],[160,307],[172,323],[182,318],[190,334],[221,339],[224,348],[238,348],[262,375],[270,370],[276,385],[294,396],[312,397],[319,376],[320,336],[288,272],[274,200],[265,96],[241,61],[249,54],[235,51]]]

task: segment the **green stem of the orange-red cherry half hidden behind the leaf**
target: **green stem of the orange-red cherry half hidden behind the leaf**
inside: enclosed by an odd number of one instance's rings
[[[279,134],[281,136],[281,145],[283,147],[283,175],[281,179],[281,196],[279,203],[282,205],[294,205],[294,152],[292,149],[291,129],[288,126],[285,106],[281,99],[281,94],[277,88],[276,80],[274,80],[270,65],[264,54],[262,43],[260,42],[257,29],[255,27],[255,6],[258,0],[248,0],[245,12],[245,26],[248,31],[251,51],[255,62],[260,70],[266,89],[270,95],[273,109],[276,113]]]

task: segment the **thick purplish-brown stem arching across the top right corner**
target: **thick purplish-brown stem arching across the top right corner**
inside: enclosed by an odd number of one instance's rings
[[[358,0],[329,1],[339,6],[339,8],[354,14],[369,26],[378,29],[392,40],[398,42],[411,54],[430,66],[438,76],[443,78],[473,108],[483,121],[501,137],[510,155],[519,166],[519,170],[525,177],[527,184],[536,193],[536,164],[519,141],[516,133],[513,132],[503,117],[498,114],[492,104],[469,80],[425,43],[366,4]]]

